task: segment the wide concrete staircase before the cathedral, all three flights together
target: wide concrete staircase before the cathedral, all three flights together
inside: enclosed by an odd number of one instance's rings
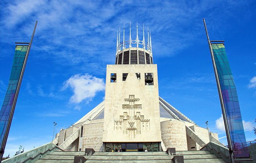
[[[176,151],[183,155],[184,163],[226,163],[209,151]],[[167,152],[95,152],[85,156],[85,152],[54,151],[38,159],[35,163],[74,163],[74,156],[84,156],[86,163],[174,163]]]

